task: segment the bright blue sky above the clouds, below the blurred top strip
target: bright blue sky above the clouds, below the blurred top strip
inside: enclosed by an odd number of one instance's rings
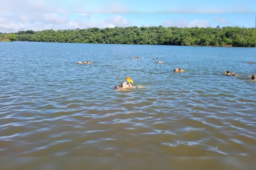
[[[126,20],[131,21],[132,25],[136,26],[159,26],[162,25],[164,21],[168,20],[187,20],[188,22],[192,22],[193,20],[205,20],[211,22],[211,25],[216,27],[217,25],[222,26],[244,26],[244,27],[255,27],[255,14],[245,13],[210,13],[210,14],[202,14],[202,13],[192,13],[192,14],[180,14],[180,13],[127,13],[127,14],[91,14],[90,20],[94,22],[99,22],[104,18],[108,18],[113,15],[120,15],[124,17]],[[75,20],[81,18],[81,16],[76,14],[70,14],[71,19]],[[227,22],[220,22],[216,20],[217,18],[225,19]],[[83,18],[86,20],[86,18]]]

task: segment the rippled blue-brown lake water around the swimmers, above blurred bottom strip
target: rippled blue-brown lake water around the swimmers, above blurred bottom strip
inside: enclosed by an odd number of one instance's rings
[[[255,156],[255,48],[1,42],[0,51],[0,156]],[[144,88],[114,89],[128,76]]]

